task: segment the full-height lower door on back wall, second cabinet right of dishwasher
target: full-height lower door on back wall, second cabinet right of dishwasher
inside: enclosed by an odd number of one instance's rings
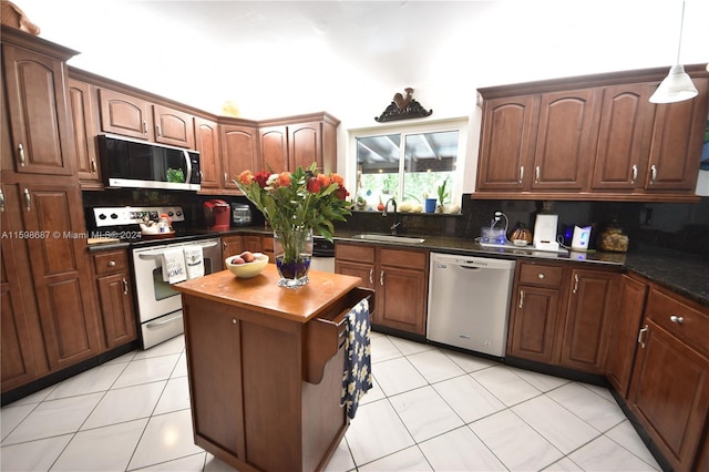
[[[608,319],[617,310],[614,284],[618,274],[574,269],[562,341],[563,366],[593,372],[604,367]]]

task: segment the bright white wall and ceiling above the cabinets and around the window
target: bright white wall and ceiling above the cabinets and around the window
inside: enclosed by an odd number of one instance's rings
[[[679,0],[127,1],[17,0],[70,64],[244,117],[328,111],[376,125],[411,86],[431,119],[469,116],[476,158],[481,86],[671,65]],[[709,1],[687,0],[682,63],[709,61]],[[474,167],[469,162],[469,166]],[[466,179],[467,181],[467,179]],[[466,182],[465,192],[472,192]]]

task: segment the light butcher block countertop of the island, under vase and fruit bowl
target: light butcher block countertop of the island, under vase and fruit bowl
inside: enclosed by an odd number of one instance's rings
[[[318,270],[310,270],[308,277],[310,283],[302,287],[279,287],[276,265],[269,264],[254,278],[237,278],[230,271],[222,270],[176,284],[173,288],[186,295],[305,324],[321,314],[332,300],[362,284],[359,277]]]

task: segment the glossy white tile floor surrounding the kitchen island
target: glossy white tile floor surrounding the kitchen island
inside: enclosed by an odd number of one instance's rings
[[[656,471],[610,393],[372,334],[332,471]],[[194,445],[184,338],[1,410],[2,471],[232,471]]]

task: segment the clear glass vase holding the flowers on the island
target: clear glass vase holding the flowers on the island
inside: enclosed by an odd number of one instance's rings
[[[274,256],[281,287],[306,285],[312,258],[312,229],[275,229]]]

